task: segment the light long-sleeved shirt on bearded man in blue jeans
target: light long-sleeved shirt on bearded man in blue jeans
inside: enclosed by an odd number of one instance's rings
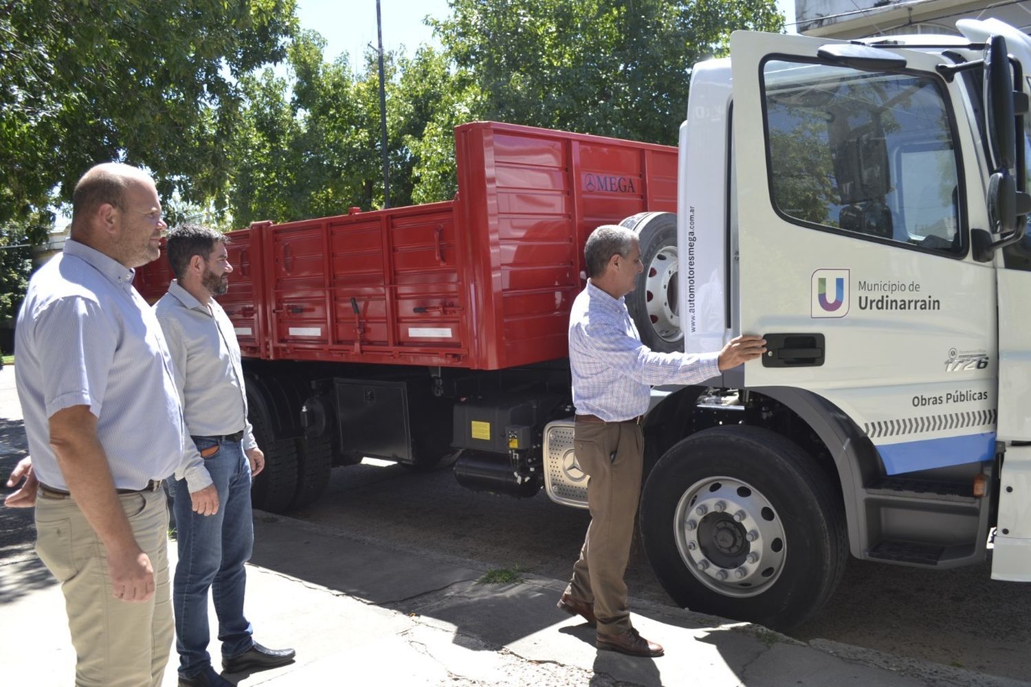
[[[154,306],[172,354],[187,430],[194,437],[243,430],[243,449],[252,449],[258,442],[247,421],[240,345],[226,311],[214,299],[209,303],[210,309],[172,279],[168,293]],[[191,492],[211,484],[204,458],[192,441],[175,473],[176,479],[184,477]]]

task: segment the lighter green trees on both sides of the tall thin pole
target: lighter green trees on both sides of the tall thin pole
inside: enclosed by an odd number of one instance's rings
[[[384,207],[376,55],[356,71],[345,57],[326,62],[324,48],[318,33],[302,32],[288,54],[292,81],[270,69],[241,80],[246,107],[227,199],[237,227]],[[447,200],[453,129],[465,121],[447,62],[424,46],[411,58],[388,54],[384,67],[390,204]]]

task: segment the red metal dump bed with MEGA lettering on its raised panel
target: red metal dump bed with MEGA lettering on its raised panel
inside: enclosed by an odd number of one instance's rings
[[[596,227],[674,211],[676,148],[473,123],[454,201],[233,232],[244,355],[497,370],[565,357]],[[164,259],[138,271],[148,301]]]

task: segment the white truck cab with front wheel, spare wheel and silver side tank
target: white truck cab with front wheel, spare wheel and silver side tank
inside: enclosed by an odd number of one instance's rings
[[[683,606],[790,627],[850,553],[949,569],[993,542],[992,577],[1031,581],[1031,40],[958,29],[738,32],[693,70],[677,213],[625,221],[631,311],[659,350],[769,351],[655,390],[639,524]],[[543,441],[548,495],[586,507],[571,421]]]

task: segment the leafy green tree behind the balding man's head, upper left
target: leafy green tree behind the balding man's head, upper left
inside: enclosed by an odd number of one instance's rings
[[[284,57],[294,6],[0,0],[0,227],[69,200],[78,176],[109,160],[153,170],[163,197],[220,192],[236,79]]]

